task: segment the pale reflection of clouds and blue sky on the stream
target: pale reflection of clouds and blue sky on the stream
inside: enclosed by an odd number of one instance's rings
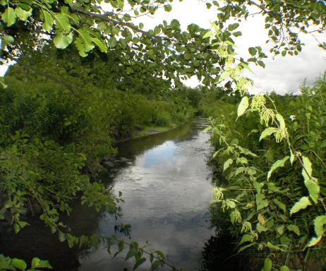
[[[149,241],[152,248],[164,251],[169,263],[188,270],[198,270],[200,251],[212,234],[207,229],[212,184],[206,164],[212,149],[207,143],[209,135],[201,132],[204,126],[203,121],[196,121],[182,139],[125,156],[133,164],[114,178],[114,192],[122,191],[126,202],[122,205],[123,222],[131,224],[132,239]],[[111,222],[102,219],[99,233],[111,234]],[[111,260],[101,249],[81,261],[81,270],[132,266],[122,257]]]

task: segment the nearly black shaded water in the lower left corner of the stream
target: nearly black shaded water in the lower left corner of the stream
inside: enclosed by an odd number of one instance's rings
[[[73,210],[63,221],[68,225],[71,233],[76,236],[90,235],[96,231],[100,215],[90,208],[73,203]],[[32,226],[25,227],[18,234],[13,234],[11,228],[0,231],[0,252],[11,258],[20,258],[30,263],[32,258],[49,260],[54,270],[76,271],[80,268],[80,255],[88,250],[78,247],[69,248],[66,242],[60,242],[57,234],[52,234],[44,222],[35,217],[28,220]]]

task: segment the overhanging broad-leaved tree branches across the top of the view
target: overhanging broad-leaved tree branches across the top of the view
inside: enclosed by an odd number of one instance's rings
[[[26,48],[42,50],[44,43],[53,42],[59,49],[74,46],[80,56],[92,52],[110,54],[121,50],[129,54],[128,69],[133,64],[147,68],[181,87],[181,80],[196,76],[205,88],[223,82],[228,92],[234,85],[250,87],[248,79],[225,73],[232,62],[238,70],[248,63],[265,66],[265,54],[260,47],[250,47],[249,59],[230,59],[234,56],[234,37],[243,18],[255,7],[265,17],[265,28],[274,42],[274,54],[298,54],[301,51],[299,32],[325,30],[325,1],[202,1],[215,8],[217,21],[214,30],[188,25],[182,31],[178,20],[163,21],[151,30],[135,18],[155,14],[159,8],[171,11],[173,0],[20,0],[1,1],[2,59],[24,57]],[[104,8],[105,7],[105,8]],[[236,19],[238,23],[229,23]],[[325,42],[320,42],[325,48]],[[224,73],[224,76],[222,74]],[[222,77],[221,77],[222,76]],[[4,83],[4,82],[3,82]]]

